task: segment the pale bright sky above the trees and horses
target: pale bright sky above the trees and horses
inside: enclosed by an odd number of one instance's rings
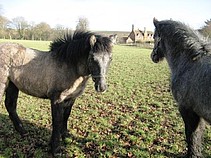
[[[211,0],[0,0],[1,12],[9,20],[22,16],[28,22],[61,24],[75,29],[79,17],[93,31],[153,31],[153,17],[179,20],[194,29],[211,19]]]

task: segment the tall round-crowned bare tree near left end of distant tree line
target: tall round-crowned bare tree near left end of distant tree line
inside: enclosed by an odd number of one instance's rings
[[[24,39],[25,31],[28,28],[28,23],[24,19],[24,17],[19,16],[19,17],[12,19],[12,24],[17,29],[19,38]]]

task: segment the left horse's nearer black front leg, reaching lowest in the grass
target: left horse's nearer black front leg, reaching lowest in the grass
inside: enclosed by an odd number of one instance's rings
[[[51,152],[53,155],[60,153],[60,138],[61,129],[63,123],[63,103],[57,103],[51,101],[51,113],[52,113],[52,135],[50,141]]]

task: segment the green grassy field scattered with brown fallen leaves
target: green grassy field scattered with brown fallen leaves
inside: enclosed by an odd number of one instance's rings
[[[49,45],[18,42],[42,50]],[[73,106],[68,122],[71,137],[62,144],[62,157],[167,158],[184,154],[184,126],[170,93],[167,63],[152,63],[150,53],[149,49],[114,46],[108,91],[96,93],[89,81]],[[20,93],[18,113],[29,131],[24,138],[14,130],[3,101],[0,107],[0,157],[49,157],[49,101]],[[203,153],[209,157],[209,126],[204,139]]]

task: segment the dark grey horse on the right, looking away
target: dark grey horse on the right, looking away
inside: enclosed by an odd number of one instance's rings
[[[185,123],[187,157],[201,157],[206,120],[211,123],[211,44],[190,27],[172,20],[153,20],[153,62],[166,58],[171,89]]]

